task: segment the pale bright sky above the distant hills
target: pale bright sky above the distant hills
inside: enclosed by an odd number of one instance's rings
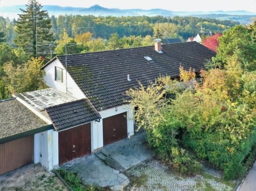
[[[26,4],[28,0],[0,0],[0,7]],[[172,11],[232,11],[256,12],[256,0],[38,0],[42,5],[88,8],[95,4],[105,8],[163,8]]]

